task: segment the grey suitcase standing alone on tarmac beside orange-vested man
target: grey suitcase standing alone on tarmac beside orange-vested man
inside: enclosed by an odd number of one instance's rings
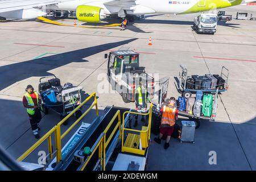
[[[180,143],[192,142],[195,143],[195,129],[196,124],[194,121],[181,121],[181,136]]]

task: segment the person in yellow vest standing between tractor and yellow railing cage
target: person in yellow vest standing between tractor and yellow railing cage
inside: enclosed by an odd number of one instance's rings
[[[146,86],[146,84],[144,84],[144,85],[142,84],[142,80],[140,78],[139,86],[135,90],[135,106],[136,106],[136,110],[138,111],[138,113],[144,113],[144,114],[146,113],[147,100],[149,101],[147,86]],[[141,121],[142,122],[146,121],[144,115],[142,115]],[[138,114],[135,116],[134,127],[137,127],[137,125],[138,125]]]

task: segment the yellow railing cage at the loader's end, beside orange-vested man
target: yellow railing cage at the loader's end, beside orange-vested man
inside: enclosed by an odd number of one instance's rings
[[[130,152],[133,154],[138,154],[138,155],[144,155],[146,152],[147,147],[149,146],[149,140],[150,140],[150,129],[151,129],[151,119],[152,119],[152,103],[150,105],[150,109],[148,111],[148,113],[143,114],[143,113],[137,113],[137,112],[133,112],[133,111],[125,111],[123,113],[123,124],[125,122],[125,114],[130,113],[130,114],[139,114],[139,115],[148,115],[148,126],[146,128],[146,130],[134,130],[134,129],[126,129],[125,127],[123,127],[122,129],[122,152]],[[126,147],[124,146],[124,132],[126,131],[132,131],[133,133],[139,133],[140,134],[140,141],[142,143],[142,149],[139,148],[131,148],[131,147]],[[142,135],[145,135],[146,137],[141,137]]]

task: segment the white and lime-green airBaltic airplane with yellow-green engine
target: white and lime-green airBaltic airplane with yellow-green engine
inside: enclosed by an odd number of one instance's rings
[[[144,14],[190,14],[255,0],[3,0],[0,16],[7,19],[34,19],[46,15],[46,10],[76,11],[82,22],[100,22],[106,15],[123,18]]]

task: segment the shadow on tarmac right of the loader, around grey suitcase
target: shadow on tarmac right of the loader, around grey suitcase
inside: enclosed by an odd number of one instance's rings
[[[177,122],[187,121],[179,118]],[[148,171],[234,171],[256,170],[256,118],[245,123],[209,122],[201,120],[195,130],[195,144],[180,143],[171,138],[170,147],[164,150],[161,144],[154,142],[151,135],[151,147],[148,153]],[[216,152],[216,165],[210,165],[210,151]],[[156,157],[161,156],[160,158]],[[172,156],[172,157],[170,157]]]

